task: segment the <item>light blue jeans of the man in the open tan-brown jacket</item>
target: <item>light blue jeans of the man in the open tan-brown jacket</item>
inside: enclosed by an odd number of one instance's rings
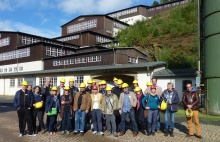
[[[84,132],[86,111],[78,109],[75,113],[75,132]]]

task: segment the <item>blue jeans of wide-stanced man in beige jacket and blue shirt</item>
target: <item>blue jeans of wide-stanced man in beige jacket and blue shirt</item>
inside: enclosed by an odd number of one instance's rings
[[[122,114],[121,114],[121,124],[120,124],[121,132],[125,132],[125,120],[126,120],[127,114],[129,114],[129,116],[130,116],[133,132],[138,132],[134,110],[130,110],[130,112],[122,112]]]

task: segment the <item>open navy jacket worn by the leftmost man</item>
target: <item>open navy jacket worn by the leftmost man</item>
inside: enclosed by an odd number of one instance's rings
[[[14,97],[14,107],[16,109],[20,107],[20,91],[21,89],[15,93],[15,97]],[[25,94],[29,96],[29,106],[30,108],[32,108],[33,107],[33,93],[32,91],[26,90]]]

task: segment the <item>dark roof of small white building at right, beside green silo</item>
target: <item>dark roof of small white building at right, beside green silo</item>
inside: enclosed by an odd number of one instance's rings
[[[153,74],[155,77],[184,77],[184,76],[196,76],[195,69],[164,69],[157,71]]]

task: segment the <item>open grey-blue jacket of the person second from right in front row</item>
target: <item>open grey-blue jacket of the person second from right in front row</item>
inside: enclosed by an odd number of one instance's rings
[[[160,96],[160,100],[161,101],[166,100],[167,95],[169,95],[169,92],[166,89],[163,91],[162,95]],[[173,96],[171,98],[171,102],[172,104],[168,105],[167,109],[170,109],[172,112],[177,112],[178,111],[177,104],[179,103],[179,95],[176,90],[173,90]]]

